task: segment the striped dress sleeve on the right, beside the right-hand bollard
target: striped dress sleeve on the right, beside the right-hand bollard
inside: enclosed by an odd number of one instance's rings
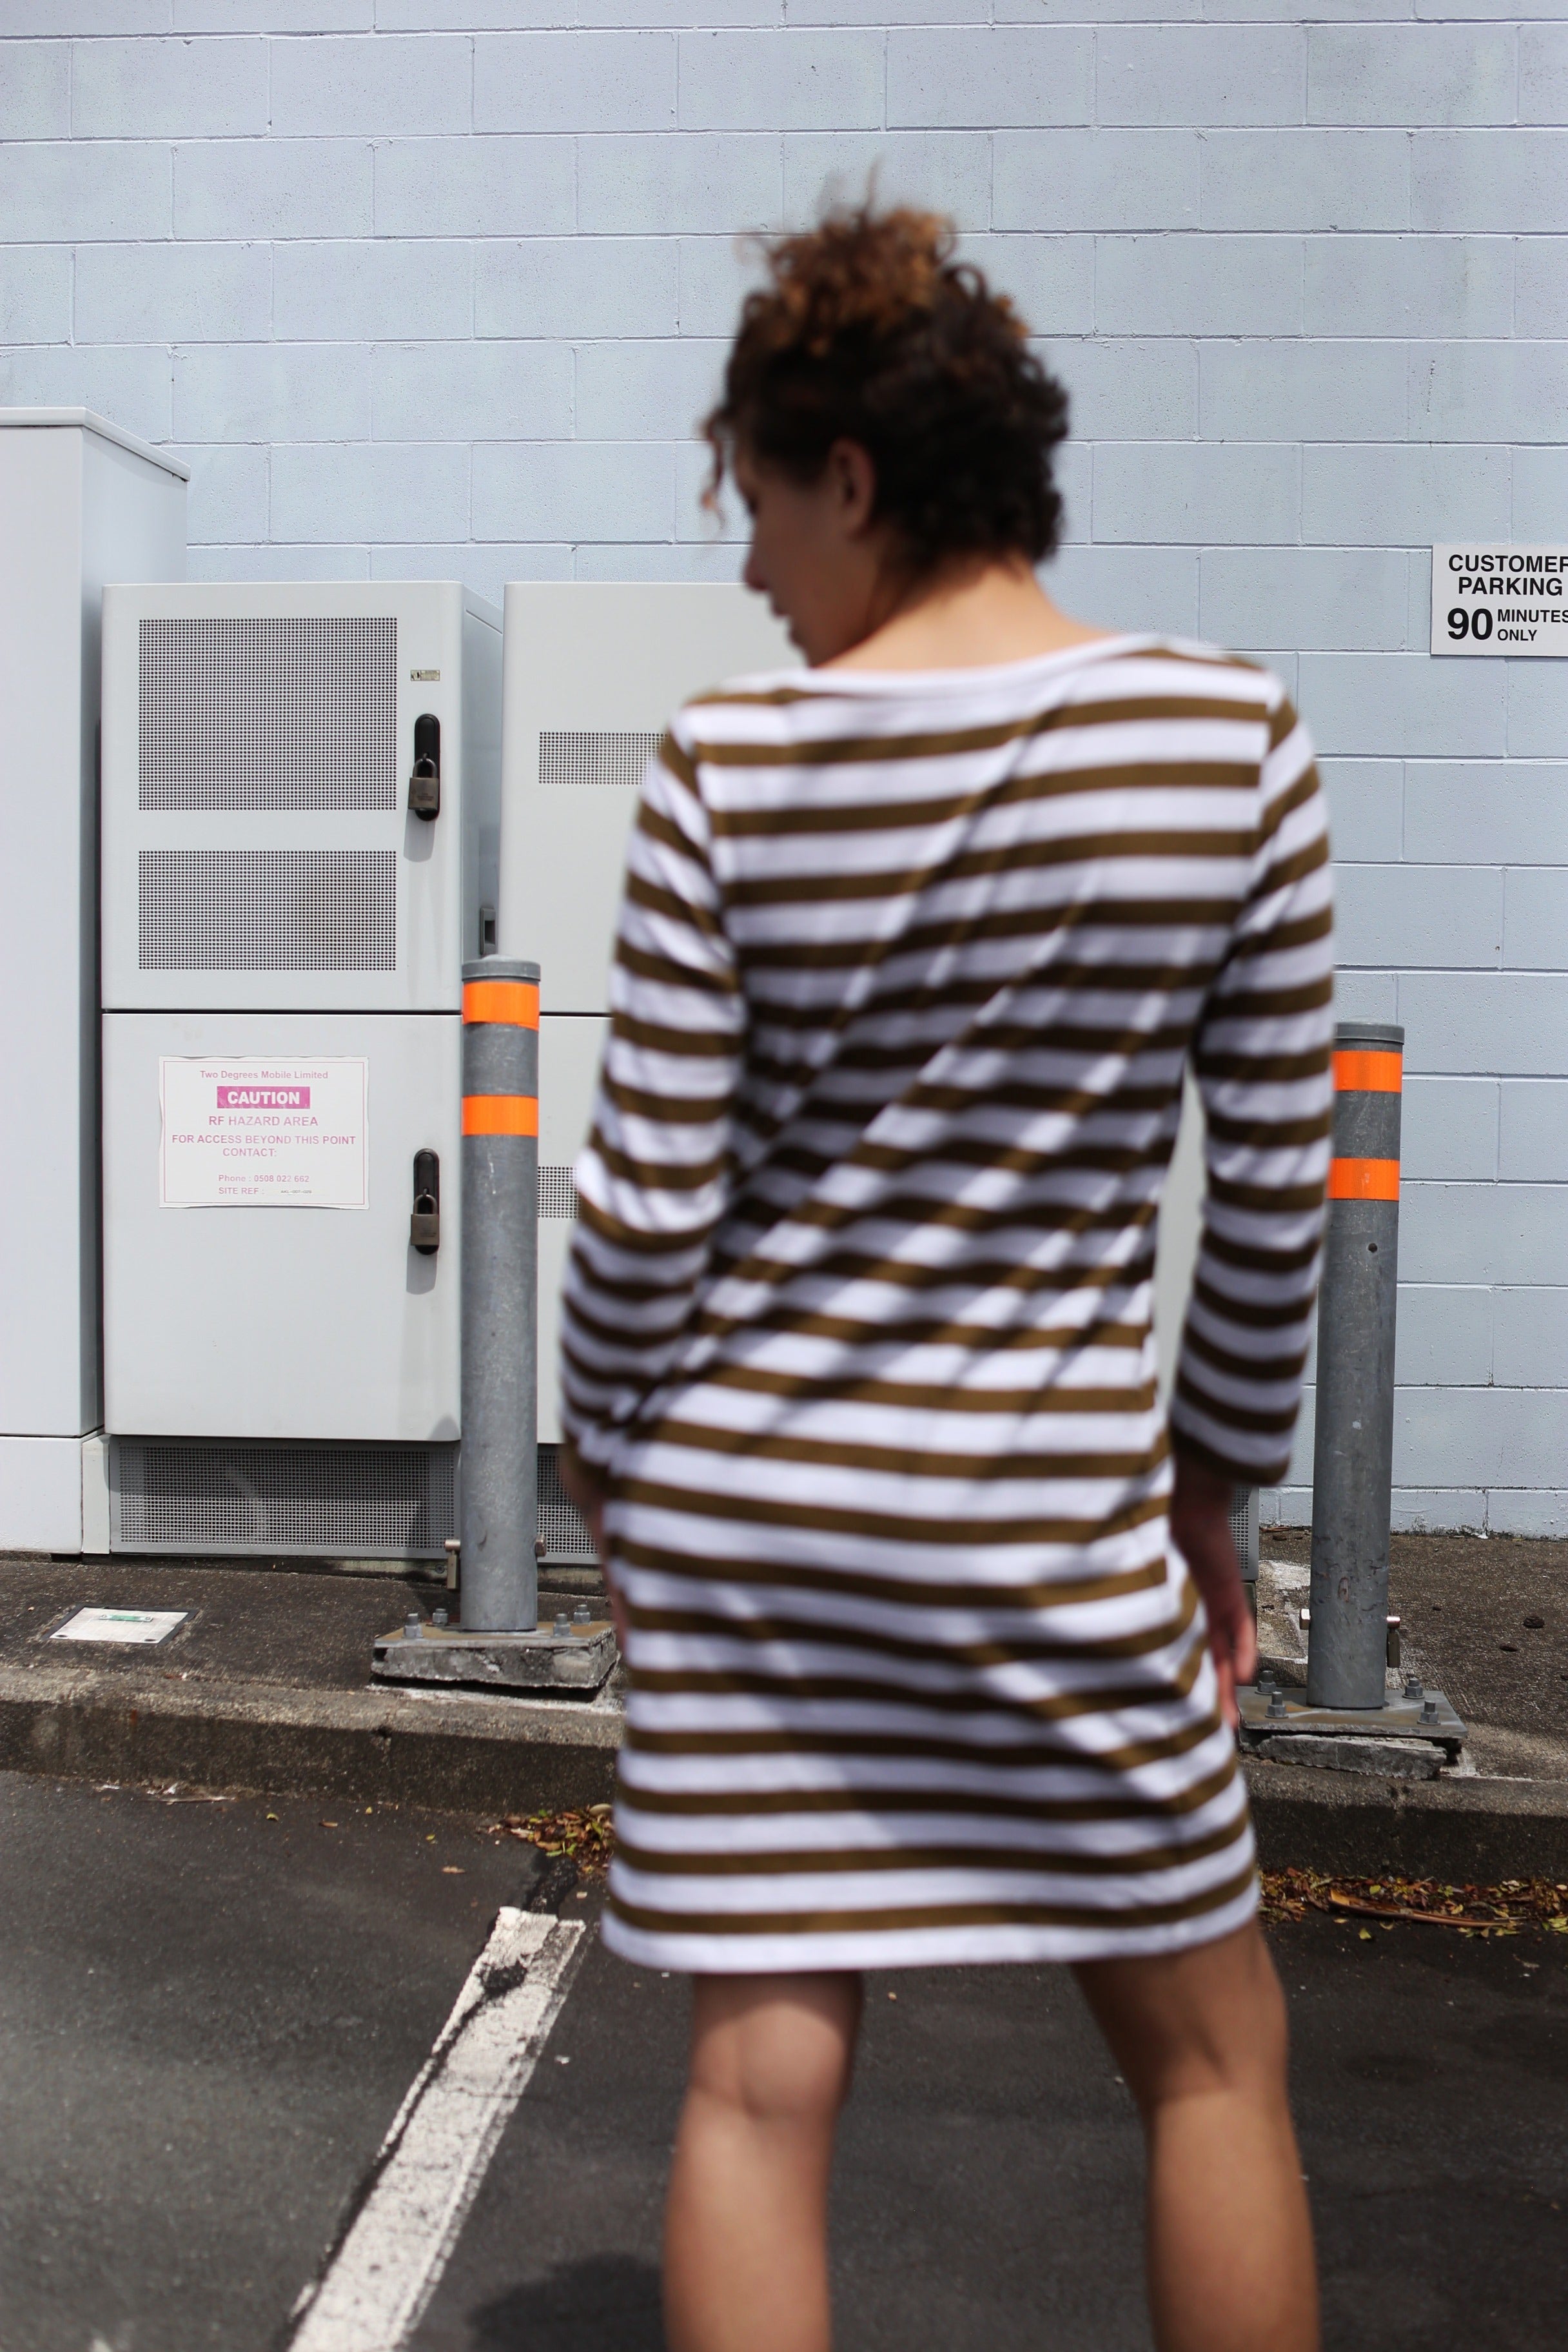
[[[1333,1110],[1328,830],[1312,743],[1284,694],[1258,802],[1251,889],[1194,1042],[1208,1197],[1171,1435],[1239,1484],[1267,1486],[1291,1458]]]

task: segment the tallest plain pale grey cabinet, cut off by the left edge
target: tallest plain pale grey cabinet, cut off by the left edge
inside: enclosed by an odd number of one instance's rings
[[[186,468],[0,409],[0,1552],[108,1550],[99,1378],[99,607],[186,574]]]

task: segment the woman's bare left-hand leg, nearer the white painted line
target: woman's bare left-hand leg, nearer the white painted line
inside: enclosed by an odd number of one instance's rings
[[[827,2176],[858,2025],[858,1976],[696,1978],[665,2206],[670,2352],[827,2352]]]

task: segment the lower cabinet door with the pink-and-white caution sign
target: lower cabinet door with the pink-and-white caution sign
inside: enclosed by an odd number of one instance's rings
[[[115,1435],[458,1435],[461,1037],[451,1014],[103,1016]],[[409,1247],[423,1150],[435,1256]]]

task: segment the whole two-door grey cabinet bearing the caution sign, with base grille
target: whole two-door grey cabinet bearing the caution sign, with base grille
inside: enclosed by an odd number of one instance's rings
[[[461,964],[494,950],[501,614],[454,583],[103,600],[118,1550],[456,1531]]]

